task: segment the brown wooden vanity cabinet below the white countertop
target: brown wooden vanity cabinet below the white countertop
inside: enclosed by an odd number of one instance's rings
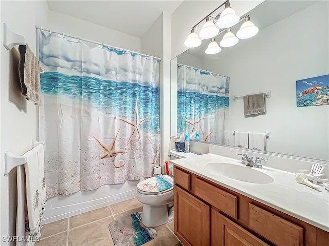
[[[329,246],[311,224],[176,166],[174,177],[174,233],[185,246]]]

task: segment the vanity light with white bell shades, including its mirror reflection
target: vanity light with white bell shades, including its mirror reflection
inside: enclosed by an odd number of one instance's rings
[[[225,8],[221,13],[217,14],[215,17],[211,16],[223,6],[225,6]],[[202,29],[200,30],[199,35],[197,35],[195,32],[195,28],[198,25],[200,25],[204,20],[206,20],[206,23],[203,25]],[[240,30],[237,31],[235,36],[234,33],[231,32],[230,28],[236,25],[237,23],[242,22],[242,20],[245,20],[245,22],[241,26]],[[256,35],[258,33],[258,28],[250,21],[249,15],[245,15],[244,17],[240,18],[240,16],[237,13],[235,13],[235,11],[231,8],[229,0],[227,0],[223,4],[221,4],[218,8],[214,9],[206,17],[204,17],[202,20],[200,20],[192,28],[191,33],[188,35],[187,39],[184,42],[184,45],[187,46],[188,48],[195,48],[201,45],[202,41],[200,38],[203,39],[214,38],[215,36],[223,32],[226,33],[222,41],[220,42],[220,46],[231,47],[239,42],[239,38],[245,39]],[[209,44],[207,50],[205,51],[207,54],[215,54],[215,53],[208,53],[210,52],[209,48],[213,49],[215,47],[215,43],[216,42],[214,42],[214,40],[211,39],[210,42],[211,45]],[[218,48],[216,48],[216,50],[218,50]]]

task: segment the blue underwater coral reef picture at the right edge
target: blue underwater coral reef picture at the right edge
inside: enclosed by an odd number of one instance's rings
[[[329,74],[296,81],[297,107],[329,105]]]

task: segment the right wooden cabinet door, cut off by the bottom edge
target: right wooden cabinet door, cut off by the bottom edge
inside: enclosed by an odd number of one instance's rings
[[[212,246],[268,246],[263,240],[252,235],[239,224],[211,209]]]

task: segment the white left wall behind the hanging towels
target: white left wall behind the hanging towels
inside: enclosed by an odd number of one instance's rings
[[[21,155],[32,148],[36,139],[36,106],[21,96],[18,77],[19,52],[8,51],[3,46],[3,23],[16,33],[24,35],[35,54],[35,25],[47,25],[48,6],[46,1],[1,1],[1,245],[3,236],[15,235],[16,214],[16,170],[4,176],[4,152]],[[17,84],[18,83],[18,84]]]

